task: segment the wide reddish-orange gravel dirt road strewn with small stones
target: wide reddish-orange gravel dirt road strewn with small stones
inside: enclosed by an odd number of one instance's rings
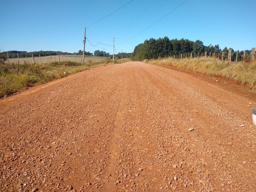
[[[127,62],[0,106],[1,191],[256,190],[256,97],[214,80]]]

